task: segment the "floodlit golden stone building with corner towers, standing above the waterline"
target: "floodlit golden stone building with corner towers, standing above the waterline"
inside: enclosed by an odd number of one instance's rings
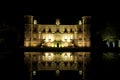
[[[25,18],[24,46],[90,47],[90,16],[83,16],[75,25],[37,24],[33,16]]]

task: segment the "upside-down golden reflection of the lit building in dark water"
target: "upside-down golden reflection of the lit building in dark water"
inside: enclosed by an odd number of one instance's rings
[[[32,71],[77,70],[80,75],[90,61],[90,52],[25,52],[24,56]]]

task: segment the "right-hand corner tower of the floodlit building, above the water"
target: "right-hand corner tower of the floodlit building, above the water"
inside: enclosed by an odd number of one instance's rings
[[[77,46],[90,47],[90,19],[91,16],[82,16],[77,26]]]

